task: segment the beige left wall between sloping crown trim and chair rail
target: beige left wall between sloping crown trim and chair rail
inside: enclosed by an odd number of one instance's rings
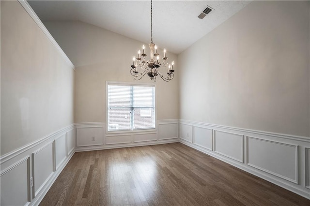
[[[1,1],[1,155],[74,123],[74,70],[18,1]]]

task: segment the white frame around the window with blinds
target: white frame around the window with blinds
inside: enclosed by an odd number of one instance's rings
[[[155,128],[148,128],[148,129],[129,129],[129,130],[114,130],[109,131],[109,106],[108,106],[108,85],[120,85],[120,86],[145,86],[145,87],[154,87],[154,108],[155,108]],[[115,81],[106,81],[106,133],[113,134],[113,133],[131,133],[131,132],[154,132],[157,131],[157,102],[156,102],[156,84],[155,83],[135,83],[135,82],[115,82]]]

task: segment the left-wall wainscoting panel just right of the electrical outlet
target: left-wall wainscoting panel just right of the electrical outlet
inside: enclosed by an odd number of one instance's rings
[[[54,142],[50,142],[32,153],[33,198],[40,192],[54,172],[53,147]]]

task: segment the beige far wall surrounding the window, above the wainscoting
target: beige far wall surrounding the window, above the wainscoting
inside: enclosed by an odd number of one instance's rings
[[[78,21],[44,24],[76,66],[75,122],[106,121],[106,81],[153,82],[147,76],[135,81],[129,73],[132,57],[147,43]],[[176,55],[167,56],[176,62]],[[177,64],[174,68],[171,82],[156,81],[157,119],[179,118]]]

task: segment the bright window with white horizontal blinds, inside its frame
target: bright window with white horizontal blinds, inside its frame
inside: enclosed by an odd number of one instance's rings
[[[108,83],[108,131],[155,128],[155,85]]]

